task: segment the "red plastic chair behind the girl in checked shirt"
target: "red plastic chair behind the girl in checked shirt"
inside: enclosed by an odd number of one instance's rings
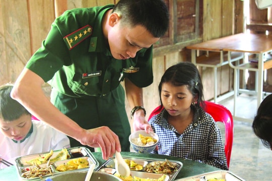
[[[231,112],[223,105],[213,103],[210,101],[205,101],[206,112],[209,113],[215,121],[220,121],[224,123],[225,126],[225,154],[227,158],[228,167],[230,166],[230,157],[233,144],[233,118]],[[163,109],[158,106],[150,114],[150,120],[154,115],[159,114]]]

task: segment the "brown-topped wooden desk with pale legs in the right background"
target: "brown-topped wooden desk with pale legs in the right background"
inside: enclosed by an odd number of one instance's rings
[[[260,105],[263,96],[263,70],[272,68],[272,61],[265,60],[265,54],[272,51],[272,35],[265,34],[249,34],[239,33],[231,36],[226,36],[206,42],[187,46],[186,48],[191,49],[192,62],[196,63],[196,51],[206,50],[215,52],[228,52],[228,63],[234,68],[234,113],[236,117],[236,103],[237,95],[239,93],[248,93],[257,96],[257,107]],[[258,57],[257,63],[243,62],[242,64],[233,64],[231,58],[231,52],[241,52],[244,55],[256,54]],[[246,60],[247,56],[244,56]],[[221,60],[223,62],[223,60]],[[251,70],[256,71],[256,89],[255,91],[245,91],[239,88],[239,70]],[[239,119],[239,117],[236,117]]]

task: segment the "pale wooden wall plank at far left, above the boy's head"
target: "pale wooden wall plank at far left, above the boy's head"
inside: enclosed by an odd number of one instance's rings
[[[9,72],[6,80],[14,82],[31,56],[27,1],[2,1],[1,6]]]

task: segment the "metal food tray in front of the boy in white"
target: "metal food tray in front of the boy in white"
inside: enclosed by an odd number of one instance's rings
[[[53,155],[51,156],[51,158],[55,157],[60,151],[61,150],[53,151]],[[86,147],[73,147],[73,148],[67,148],[67,151],[68,151],[68,155],[67,155],[68,159],[56,161],[56,162],[50,164],[52,174],[49,173],[47,175],[42,176],[42,178],[46,178],[48,176],[52,176],[52,175],[56,175],[56,174],[63,174],[63,173],[67,173],[67,172],[88,170],[88,167],[75,169],[75,170],[69,170],[69,171],[56,170],[56,167],[58,165],[66,164],[68,161],[70,161],[72,159],[78,159],[78,158],[86,159],[89,162],[89,165],[95,164],[95,169],[98,168],[99,162],[96,160],[96,158],[93,156],[93,154],[91,153],[91,151],[88,148],[86,148]],[[26,156],[21,156],[21,157],[16,158],[16,169],[17,169],[20,180],[31,180],[31,181],[35,180],[36,181],[36,180],[41,179],[39,176],[33,177],[33,178],[25,178],[22,176],[22,174],[23,174],[24,170],[32,170],[34,168],[34,166],[28,164],[27,161],[37,158],[37,157],[44,155],[46,153],[48,153],[48,152],[31,154],[31,155],[26,155]],[[48,165],[45,163],[45,164],[40,164],[39,166],[41,168],[45,168]]]

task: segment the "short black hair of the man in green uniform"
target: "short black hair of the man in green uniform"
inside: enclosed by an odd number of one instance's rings
[[[156,38],[164,36],[169,27],[169,11],[163,0],[120,0],[112,12],[121,16],[122,25],[142,25]]]

